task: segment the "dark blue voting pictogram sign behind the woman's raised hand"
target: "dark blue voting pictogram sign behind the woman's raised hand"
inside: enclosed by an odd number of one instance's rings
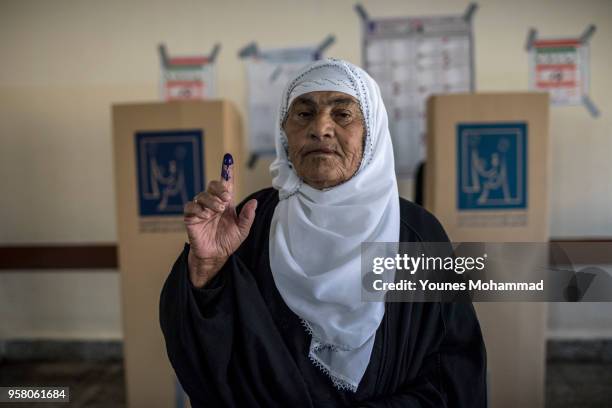
[[[134,141],[140,215],[182,214],[204,189],[202,130],[138,132]]]

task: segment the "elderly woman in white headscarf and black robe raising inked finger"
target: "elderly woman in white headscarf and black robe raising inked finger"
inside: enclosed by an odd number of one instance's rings
[[[273,188],[235,206],[223,177],[185,206],[189,244],[160,301],[168,356],[194,407],[486,405],[469,303],[364,302],[362,242],[446,242],[401,199],[376,82],[305,67],[281,101]]]

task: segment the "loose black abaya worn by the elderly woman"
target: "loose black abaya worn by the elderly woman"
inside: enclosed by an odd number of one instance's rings
[[[386,303],[357,392],[334,388],[308,359],[310,336],[272,278],[278,192],[250,198],[251,232],[222,270],[195,288],[185,244],[161,293],[168,357],[194,408],[486,406],[486,353],[470,303]],[[401,241],[448,241],[433,215],[400,201]]]

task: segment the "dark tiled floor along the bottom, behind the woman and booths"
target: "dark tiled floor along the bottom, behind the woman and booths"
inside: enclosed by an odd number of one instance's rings
[[[70,407],[125,407],[123,363],[16,362],[0,364],[0,385],[68,385]],[[547,408],[612,407],[612,363],[549,362]],[[0,404],[15,407],[66,408],[66,404]]]

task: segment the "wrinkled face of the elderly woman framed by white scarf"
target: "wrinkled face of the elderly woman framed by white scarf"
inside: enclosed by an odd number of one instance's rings
[[[363,115],[342,92],[309,92],[293,100],[283,125],[289,159],[308,185],[324,189],[350,179],[361,163]]]

